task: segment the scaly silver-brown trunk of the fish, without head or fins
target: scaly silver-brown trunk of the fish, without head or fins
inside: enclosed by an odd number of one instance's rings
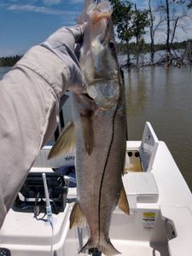
[[[77,105],[77,97],[73,96],[73,101],[80,112],[85,106]],[[116,104],[108,112],[96,111],[92,118],[94,148],[90,155],[84,148],[79,114],[74,116],[79,137],[76,144],[79,204],[90,227],[90,240],[95,241],[96,246],[103,237],[108,239],[111,214],[122,189],[125,155],[125,114],[122,115],[122,109]]]

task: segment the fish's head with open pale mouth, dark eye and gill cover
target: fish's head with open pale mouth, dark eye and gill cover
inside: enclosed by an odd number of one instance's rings
[[[108,1],[87,8],[88,24],[79,60],[87,94],[104,110],[119,99],[119,65],[111,15]]]

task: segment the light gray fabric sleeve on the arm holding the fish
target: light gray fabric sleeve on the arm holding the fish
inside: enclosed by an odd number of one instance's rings
[[[36,46],[0,81],[0,227],[40,148],[55,131],[68,79],[65,63]]]

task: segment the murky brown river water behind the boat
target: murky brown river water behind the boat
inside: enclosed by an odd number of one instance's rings
[[[0,79],[9,68],[0,67]],[[149,121],[192,191],[192,71],[147,67],[125,72],[128,139],[141,140]],[[69,102],[66,109],[70,112]],[[65,123],[69,119],[65,111]],[[168,175],[167,175],[168,178]],[[174,182],[174,181],[173,181]]]

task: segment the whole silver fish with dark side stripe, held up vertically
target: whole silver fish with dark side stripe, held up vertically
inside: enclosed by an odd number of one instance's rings
[[[89,226],[89,240],[80,252],[98,248],[105,255],[115,255],[119,252],[108,236],[113,210],[119,204],[129,214],[122,183],[126,143],[124,87],[108,1],[86,1],[84,9],[88,26],[79,61],[87,87],[84,94],[73,94],[73,121],[61,133],[49,158],[67,153],[75,142],[78,199],[70,226],[80,225],[84,218]]]

